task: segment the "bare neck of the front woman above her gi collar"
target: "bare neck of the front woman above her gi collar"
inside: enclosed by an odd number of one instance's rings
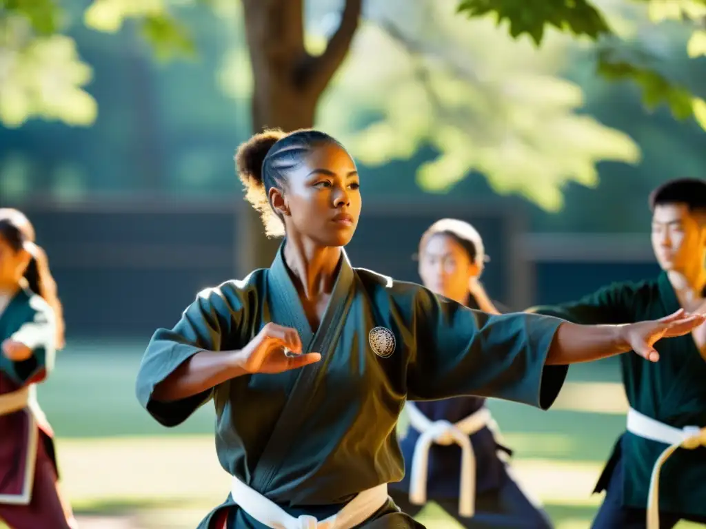
[[[287,236],[284,257],[289,269],[301,282],[307,299],[333,291],[341,257],[339,246],[321,246],[311,239]]]

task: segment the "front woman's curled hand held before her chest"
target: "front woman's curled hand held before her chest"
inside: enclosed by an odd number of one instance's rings
[[[319,353],[301,353],[296,329],[268,323],[239,351],[239,363],[249,373],[281,373],[321,360]]]

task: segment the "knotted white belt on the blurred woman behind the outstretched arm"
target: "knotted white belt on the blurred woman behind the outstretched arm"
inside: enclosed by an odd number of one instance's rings
[[[414,505],[426,503],[426,475],[429,470],[429,449],[432,443],[457,444],[461,447],[461,483],[458,513],[470,518],[475,512],[476,455],[469,435],[482,430],[493,421],[488,408],[481,408],[467,418],[451,424],[448,420],[430,420],[412,402],[405,406],[409,425],[421,435],[414,445],[412,472],[409,478],[409,501]]]

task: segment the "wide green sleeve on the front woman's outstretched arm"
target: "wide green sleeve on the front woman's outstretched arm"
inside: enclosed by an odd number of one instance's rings
[[[409,400],[472,395],[547,409],[567,366],[545,365],[555,317],[511,313],[492,316],[420,288],[407,365]]]

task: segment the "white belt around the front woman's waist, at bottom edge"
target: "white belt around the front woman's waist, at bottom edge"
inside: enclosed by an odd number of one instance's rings
[[[388,485],[360,492],[343,509],[325,520],[303,514],[294,518],[274,501],[233,477],[233,501],[250,516],[272,529],[351,529],[364,523],[388,501]]]

